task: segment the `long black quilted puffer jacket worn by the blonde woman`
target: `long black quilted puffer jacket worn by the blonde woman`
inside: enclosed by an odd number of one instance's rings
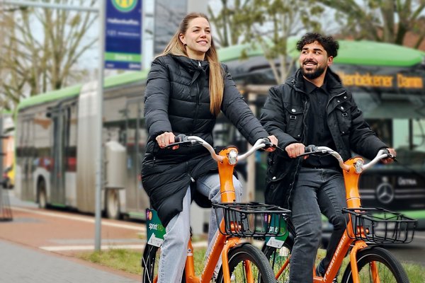
[[[222,67],[225,89],[221,110],[254,144],[268,134],[240,96],[227,67]],[[196,135],[212,144],[215,115],[210,112],[208,86],[209,63],[206,61],[166,55],[152,62],[145,91],[149,139],[142,162],[142,185],[164,225],[181,212],[191,180],[216,170],[217,164],[203,146],[159,149],[155,138],[164,132],[173,132]]]

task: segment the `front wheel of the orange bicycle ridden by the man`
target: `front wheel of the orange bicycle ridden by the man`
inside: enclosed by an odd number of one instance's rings
[[[377,246],[365,248],[357,254],[357,267],[360,282],[374,282],[369,270],[370,262],[376,262],[378,265],[380,282],[409,283],[409,278],[399,260],[388,250],[385,250],[385,248]],[[351,265],[347,265],[341,282],[353,282],[353,278],[351,277]]]

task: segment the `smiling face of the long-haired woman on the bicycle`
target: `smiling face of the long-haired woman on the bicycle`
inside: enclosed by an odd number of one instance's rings
[[[210,23],[205,18],[194,18],[189,22],[186,33],[180,34],[186,52],[191,59],[203,60],[211,47]]]

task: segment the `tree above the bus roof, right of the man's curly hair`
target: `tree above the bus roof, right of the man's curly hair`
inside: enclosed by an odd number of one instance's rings
[[[343,37],[404,44],[407,33],[416,34],[414,47],[425,37],[424,0],[318,0],[334,8]]]

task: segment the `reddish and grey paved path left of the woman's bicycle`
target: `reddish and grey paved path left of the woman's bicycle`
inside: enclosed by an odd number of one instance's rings
[[[75,257],[94,250],[94,217],[38,209],[11,197],[13,221],[0,221],[0,283],[140,282],[140,275]],[[102,249],[142,250],[140,223],[103,219]]]

